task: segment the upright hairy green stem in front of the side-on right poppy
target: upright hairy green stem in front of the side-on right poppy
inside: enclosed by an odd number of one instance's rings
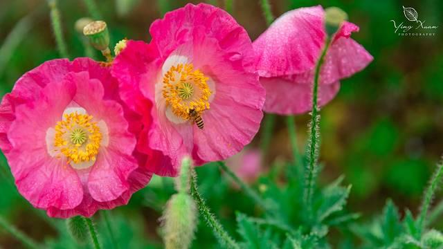
[[[329,48],[330,38],[327,37],[325,48],[318,59],[316,64],[316,70],[314,75],[314,86],[312,87],[312,112],[311,112],[311,124],[309,131],[309,163],[307,165],[307,174],[305,180],[305,201],[307,203],[307,208],[310,212],[312,206],[312,195],[314,193],[314,180],[318,172],[318,144],[320,138],[320,131],[318,129],[318,124],[320,122],[320,115],[318,113],[318,80],[320,76],[320,68],[323,65],[327,49]]]

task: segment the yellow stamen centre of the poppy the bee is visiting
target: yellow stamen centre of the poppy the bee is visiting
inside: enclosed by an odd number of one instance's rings
[[[163,75],[162,95],[175,116],[190,119],[190,109],[201,113],[209,109],[211,91],[207,84],[208,77],[192,64],[171,66]]]

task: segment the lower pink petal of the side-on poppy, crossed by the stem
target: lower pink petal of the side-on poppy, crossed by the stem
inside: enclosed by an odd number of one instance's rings
[[[266,89],[266,102],[263,110],[269,113],[292,115],[305,113],[312,108],[312,89],[309,84],[297,84],[282,78],[263,77],[261,82]],[[318,88],[320,106],[332,100],[340,89],[340,82],[323,84]]]

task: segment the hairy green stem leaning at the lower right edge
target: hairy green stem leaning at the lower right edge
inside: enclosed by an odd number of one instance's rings
[[[437,169],[435,170],[431,182],[429,183],[428,188],[426,189],[426,192],[424,194],[422,210],[420,211],[418,219],[420,235],[422,234],[422,231],[425,228],[426,214],[428,213],[429,206],[431,205],[433,196],[435,194],[435,190],[437,189],[438,183],[440,183],[442,175],[443,175],[443,163],[440,163],[439,165],[437,165]]]

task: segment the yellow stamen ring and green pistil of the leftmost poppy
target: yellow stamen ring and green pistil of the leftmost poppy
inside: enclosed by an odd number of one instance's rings
[[[54,147],[68,163],[95,161],[102,141],[102,133],[93,116],[78,112],[65,114],[55,125]]]

